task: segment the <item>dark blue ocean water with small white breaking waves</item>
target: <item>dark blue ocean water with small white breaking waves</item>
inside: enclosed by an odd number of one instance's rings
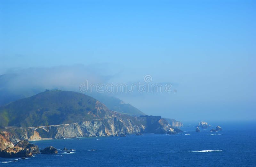
[[[38,154],[17,162],[12,162],[15,158],[0,158],[0,166],[256,166],[256,124],[216,125],[223,131],[201,129],[196,133],[195,124],[188,124],[177,135],[31,141],[40,148],[67,147],[75,151],[65,154],[58,150],[57,155]]]

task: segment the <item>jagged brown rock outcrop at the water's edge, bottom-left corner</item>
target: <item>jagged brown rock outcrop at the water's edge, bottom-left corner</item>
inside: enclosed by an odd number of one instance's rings
[[[36,145],[28,143],[27,140],[20,140],[14,147],[0,151],[0,157],[28,157],[39,153]]]

